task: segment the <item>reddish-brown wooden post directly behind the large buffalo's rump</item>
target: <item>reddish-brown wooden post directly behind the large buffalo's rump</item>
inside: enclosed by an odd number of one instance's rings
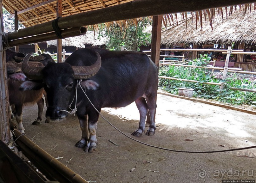
[[[157,65],[159,68],[159,60],[160,60],[160,41],[161,41],[161,30],[162,30],[162,15],[153,16],[152,22],[152,37],[151,37],[151,60]],[[157,88],[156,88],[157,90]],[[150,123],[149,112],[147,114],[147,124]]]

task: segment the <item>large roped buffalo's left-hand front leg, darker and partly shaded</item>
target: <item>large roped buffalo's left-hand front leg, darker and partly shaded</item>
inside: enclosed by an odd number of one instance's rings
[[[84,148],[89,141],[88,115],[78,116],[78,120],[82,130],[82,138],[75,144],[75,147]]]

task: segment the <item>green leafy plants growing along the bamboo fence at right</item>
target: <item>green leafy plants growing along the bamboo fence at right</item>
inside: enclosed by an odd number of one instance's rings
[[[190,61],[189,65],[206,66],[210,57],[207,55],[200,55],[193,61]],[[249,104],[255,106],[256,95],[253,92],[231,90],[229,88],[247,88],[256,89],[256,81],[249,81],[249,79],[239,79],[237,77],[227,77],[225,91],[220,93],[220,86],[203,84],[203,82],[224,82],[221,79],[215,78],[211,72],[204,68],[190,68],[180,66],[163,66],[159,69],[159,76],[167,76],[188,80],[196,80],[199,82],[182,82],[169,79],[159,79],[159,88],[166,90],[172,94],[178,95],[178,88],[193,88],[194,97],[212,99],[216,101],[222,101],[231,103],[233,105]],[[229,76],[229,74],[227,75]]]

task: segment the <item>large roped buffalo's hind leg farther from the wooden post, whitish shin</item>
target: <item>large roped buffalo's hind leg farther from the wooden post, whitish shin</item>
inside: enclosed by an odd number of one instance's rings
[[[145,120],[147,116],[148,106],[145,98],[141,97],[135,100],[136,106],[140,112],[140,123],[139,128],[135,130],[132,135],[135,137],[141,136],[145,132]]]

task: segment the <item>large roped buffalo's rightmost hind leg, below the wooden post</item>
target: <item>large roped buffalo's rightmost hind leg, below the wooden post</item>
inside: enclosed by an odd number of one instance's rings
[[[156,111],[156,97],[150,97],[147,98],[147,103],[148,103],[148,111],[149,111],[149,116],[150,116],[150,124],[148,131],[146,132],[146,135],[152,136],[155,134],[155,111]]]

